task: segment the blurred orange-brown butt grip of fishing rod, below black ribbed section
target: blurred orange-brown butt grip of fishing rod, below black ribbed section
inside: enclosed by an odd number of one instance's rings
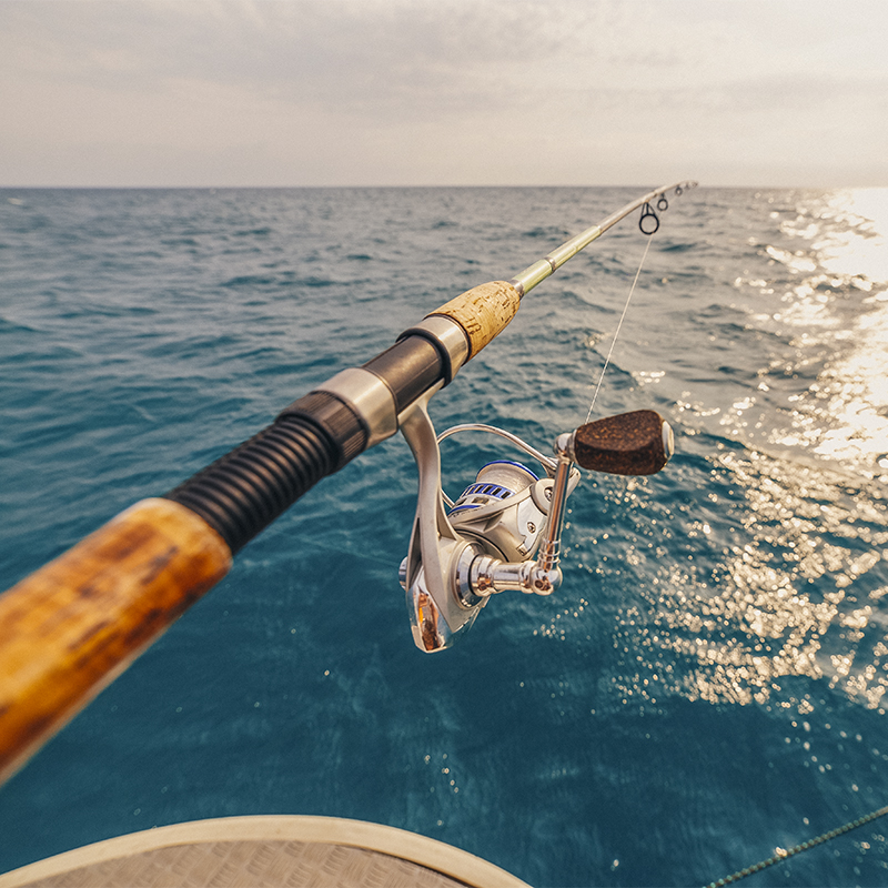
[[[143,500],[0,596],[0,780],[230,567],[202,518]]]

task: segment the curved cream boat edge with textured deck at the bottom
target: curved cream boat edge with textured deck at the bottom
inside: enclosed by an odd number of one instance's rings
[[[526,888],[443,842],[331,817],[230,817],[89,845],[0,876],[0,888]]]

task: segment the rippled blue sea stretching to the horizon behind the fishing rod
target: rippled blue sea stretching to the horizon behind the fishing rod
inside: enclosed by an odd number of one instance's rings
[[[644,189],[0,191],[0,577],[163,493],[427,311]],[[0,789],[0,871],[155,825],[351,817],[536,886],[695,885],[888,804],[888,192],[672,201],[595,415],[565,581],[418,653],[400,438],[322,482]],[[541,284],[432,402],[586,418],[645,238]],[[451,495],[497,440],[443,445]],[[0,632],[2,632],[0,627]],[[888,884],[876,821],[749,885]]]

